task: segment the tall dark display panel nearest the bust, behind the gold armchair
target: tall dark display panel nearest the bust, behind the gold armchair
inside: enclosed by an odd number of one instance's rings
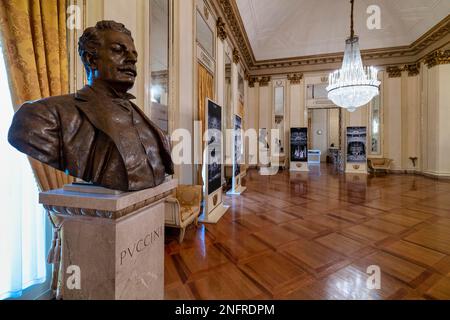
[[[208,100],[208,195],[222,185],[222,107]]]

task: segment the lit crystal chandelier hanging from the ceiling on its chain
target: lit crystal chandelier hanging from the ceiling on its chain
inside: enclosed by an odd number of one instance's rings
[[[328,98],[339,107],[350,112],[368,104],[379,94],[380,81],[378,70],[374,67],[364,67],[359,50],[359,38],[353,30],[353,6],[351,0],[351,33],[345,41],[344,61],[342,68],[329,76],[327,87]]]

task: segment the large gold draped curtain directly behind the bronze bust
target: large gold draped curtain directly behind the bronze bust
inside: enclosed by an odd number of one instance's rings
[[[25,101],[68,93],[66,0],[0,0],[0,36],[15,111]],[[30,163],[42,191],[73,182]]]

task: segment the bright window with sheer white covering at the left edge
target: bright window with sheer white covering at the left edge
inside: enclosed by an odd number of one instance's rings
[[[0,299],[30,295],[33,285],[48,288],[46,217],[25,155],[8,143],[14,114],[0,45]],[[29,290],[26,290],[29,288]],[[45,289],[40,288],[41,292]]]

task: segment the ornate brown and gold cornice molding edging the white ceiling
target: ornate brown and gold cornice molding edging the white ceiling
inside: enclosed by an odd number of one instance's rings
[[[313,66],[320,64],[341,63],[343,52],[311,55],[302,57],[293,57],[286,59],[260,60],[255,59],[253,49],[247,36],[244,23],[240,16],[235,0],[213,0],[219,4],[220,10],[224,16],[227,26],[236,40],[237,48],[250,71],[262,69],[276,69],[296,66]],[[431,28],[419,39],[409,46],[399,46],[390,48],[362,50],[361,55],[364,59],[386,59],[386,58],[410,58],[413,59],[421,51],[439,41],[450,33],[450,15],[447,15],[441,22]],[[420,59],[422,59],[421,57]]]

